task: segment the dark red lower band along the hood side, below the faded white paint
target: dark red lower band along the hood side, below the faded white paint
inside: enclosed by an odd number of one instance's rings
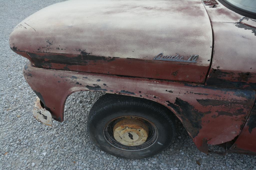
[[[209,69],[208,66],[195,63],[156,61],[153,58],[152,60],[143,60],[56,53],[28,53],[28,55],[37,67],[178,81],[185,78],[186,81],[199,83],[205,81]],[[62,60],[65,60],[63,58],[67,58],[68,63],[63,63]],[[53,60],[58,62],[53,63]]]

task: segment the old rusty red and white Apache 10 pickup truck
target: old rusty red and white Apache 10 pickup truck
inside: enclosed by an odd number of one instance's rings
[[[29,60],[38,121],[62,122],[71,93],[106,93],[87,128],[109,154],[161,152],[175,117],[201,152],[255,154],[255,18],[247,0],[73,0],[20,22],[9,44]]]

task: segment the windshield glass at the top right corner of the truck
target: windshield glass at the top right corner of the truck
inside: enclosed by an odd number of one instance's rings
[[[256,0],[223,0],[233,8],[256,15]]]

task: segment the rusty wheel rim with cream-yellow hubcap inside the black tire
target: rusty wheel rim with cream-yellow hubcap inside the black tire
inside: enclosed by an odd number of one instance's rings
[[[158,138],[154,123],[138,116],[120,116],[110,120],[104,126],[103,134],[112,146],[128,151],[146,149]]]

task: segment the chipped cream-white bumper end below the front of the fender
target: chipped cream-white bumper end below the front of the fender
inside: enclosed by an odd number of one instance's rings
[[[47,126],[52,126],[52,115],[48,110],[42,107],[38,97],[34,103],[33,116],[37,121]]]

